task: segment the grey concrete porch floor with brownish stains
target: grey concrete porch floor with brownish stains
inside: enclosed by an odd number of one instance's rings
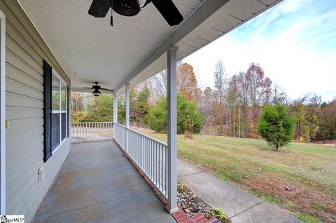
[[[113,141],[74,144],[33,222],[175,222]]]

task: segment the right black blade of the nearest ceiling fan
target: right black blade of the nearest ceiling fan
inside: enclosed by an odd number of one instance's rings
[[[179,25],[183,21],[183,16],[172,0],[152,0],[152,2],[169,25]]]

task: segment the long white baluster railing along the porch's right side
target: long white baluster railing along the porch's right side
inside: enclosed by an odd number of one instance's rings
[[[130,128],[127,129],[118,123],[114,123],[114,126],[115,140],[127,151],[132,161],[146,174],[162,196],[168,198],[167,144]],[[128,137],[126,137],[126,131],[128,132]],[[127,149],[126,138],[128,138]]]

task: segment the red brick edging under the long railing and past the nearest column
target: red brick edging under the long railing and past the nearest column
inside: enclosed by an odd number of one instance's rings
[[[161,203],[166,207],[168,205],[168,202],[167,202],[166,198],[160,194],[160,192],[158,191],[158,189],[155,188],[155,186],[151,182],[151,180],[149,180],[149,178],[146,176],[146,174],[139,168],[137,163],[134,163],[132,158],[126,153],[126,151],[123,149],[123,147],[116,140],[113,140],[113,141],[116,143],[118,148],[123,152],[124,156],[128,159],[128,161],[130,161],[130,163],[132,163],[135,170],[137,170],[137,172],[144,179],[146,184],[148,184],[148,186],[151,188],[151,190],[153,191],[155,196],[157,196],[159,198],[159,200],[161,201]],[[181,209],[179,209],[178,212],[174,212],[172,214],[172,217],[174,217],[174,219],[176,220],[177,223],[219,223],[219,222],[221,222],[216,217],[213,217],[211,219],[207,219],[202,214],[197,214],[194,217],[190,217],[186,212],[184,212]]]

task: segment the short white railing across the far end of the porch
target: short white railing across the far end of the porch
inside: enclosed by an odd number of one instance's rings
[[[113,139],[113,122],[71,123],[72,142],[90,142]]]

